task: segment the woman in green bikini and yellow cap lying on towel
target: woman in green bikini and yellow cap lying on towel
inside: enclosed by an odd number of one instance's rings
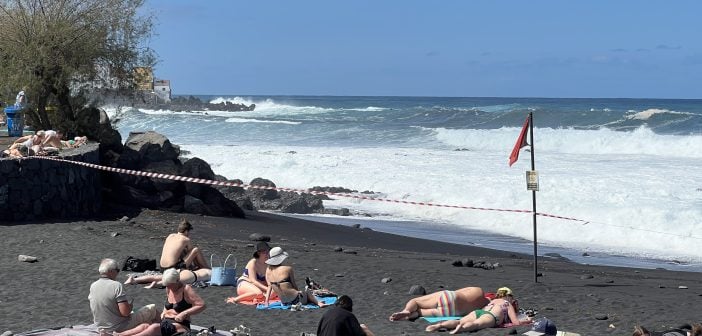
[[[438,331],[440,329],[453,329],[451,334],[466,331],[476,331],[485,328],[499,327],[506,323],[519,325],[517,311],[514,309],[514,296],[512,290],[502,287],[497,290],[495,299],[490,301],[482,309],[476,309],[461,318],[460,321],[451,320],[432,324],[427,327],[427,331]]]

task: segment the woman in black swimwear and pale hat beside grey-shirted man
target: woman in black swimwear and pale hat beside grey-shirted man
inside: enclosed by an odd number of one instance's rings
[[[205,310],[205,301],[190,285],[180,282],[180,271],[169,268],[163,272],[166,286],[166,303],[161,313],[161,323],[144,323],[118,336],[172,336],[190,331],[190,317]]]

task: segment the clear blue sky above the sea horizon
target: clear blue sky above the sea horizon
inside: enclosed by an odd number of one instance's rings
[[[174,94],[702,98],[702,1],[147,0]]]

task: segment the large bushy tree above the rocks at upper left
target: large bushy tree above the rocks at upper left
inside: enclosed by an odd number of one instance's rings
[[[27,87],[29,124],[93,133],[82,119],[95,94],[133,88],[134,69],[155,63],[144,1],[0,0],[0,97]]]

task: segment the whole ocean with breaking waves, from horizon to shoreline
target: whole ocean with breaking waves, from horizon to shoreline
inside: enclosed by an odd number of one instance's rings
[[[528,148],[508,165],[529,112],[539,174],[539,254],[702,271],[702,100],[198,96],[251,112],[108,107],[123,139],[154,130],[245,182],[336,186],[374,197],[531,211]],[[119,115],[119,118],[114,118]],[[529,212],[354,198],[356,216],[300,216],[531,253]]]

